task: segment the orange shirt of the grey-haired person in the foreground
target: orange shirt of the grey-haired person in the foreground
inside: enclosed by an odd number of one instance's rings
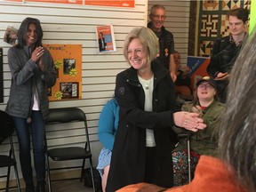
[[[129,185],[117,192],[245,192],[234,172],[228,170],[228,165],[212,156],[201,156],[196,166],[195,178],[191,183],[176,188],[160,188],[148,183]]]

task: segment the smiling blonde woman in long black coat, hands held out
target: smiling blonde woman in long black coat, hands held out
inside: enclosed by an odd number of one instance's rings
[[[106,191],[149,182],[172,187],[172,125],[197,131],[205,124],[197,113],[175,108],[170,72],[158,63],[158,40],[149,28],[134,28],[124,40],[131,68],[116,76],[120,107]]]

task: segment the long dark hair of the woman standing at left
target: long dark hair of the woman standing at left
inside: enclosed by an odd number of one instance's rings
[[[36,25],[36,35],[37,35],[37,40],[35,46],[42,46],[42,38],[43,38],[43,29],[40,24],[40,20],[36,18],[26,18],[23,20],[20,24],[20,28],[18,30],[18,48],[23,48],[27,42],[26,42],[26,37],[27,37],[27,32],[28,32],[28,26],[33,23]]]

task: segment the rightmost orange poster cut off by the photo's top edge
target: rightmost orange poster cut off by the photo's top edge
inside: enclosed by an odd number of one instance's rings
[[[134,7],[135,0],[85,0],[86,5],[100,5],[100,6],[113,6],[113,7]]]

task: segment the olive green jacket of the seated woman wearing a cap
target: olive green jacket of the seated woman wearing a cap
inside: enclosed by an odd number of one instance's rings
[[[182,106],[183,111],[192,112],[192,107],[199,105],[198,102],[188,101]],[[225,104],[217,100],[213,100],[211,105],[204,108],[203,116],[204,123],[207,127],[198,132],[193,132],[190,141],[191,150],[199,155],[218,156],[218,140],[221,124],[221,117],[225,110]],[[189,131],[184,131],[189,132]],[[182,132],[182,133],[184,133]],[[178,146],[173,151],[187,149],[186,139],[180,139]]]

